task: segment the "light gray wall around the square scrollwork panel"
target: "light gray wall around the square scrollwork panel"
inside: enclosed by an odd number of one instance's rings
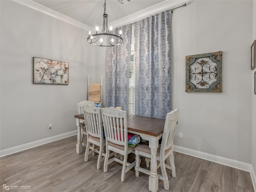
[[[174,144],[251,163],[252,1],[191,1],[172,21],[173,108],[180,109]],[[185,92],[185,56],[216,51],[222,93]]]

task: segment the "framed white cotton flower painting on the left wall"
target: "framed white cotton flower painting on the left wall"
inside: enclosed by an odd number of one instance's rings
[[[34,84],[68,85],[68,62],[33,57]]]

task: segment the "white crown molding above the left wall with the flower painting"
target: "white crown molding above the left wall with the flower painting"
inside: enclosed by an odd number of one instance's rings
[[[22,4],[24,6],[32,8],[34,10],[37,10],[41,13],[46,14],[46,15],[49,15],[53,18],[58,19],[58,20],[64,21],[68,24],[74,25],[74,26],[76,26],[78,28],[81,28],[83,30],[86,30],[86,31],[94,30],[94,28],[92,28],[92,27],[90,27],[86,24],[83,24],[82,22],[79,22],[75,19],[72,19],[72,18],[70,18],[70,17],[68,17],[64,14],[61,14],[57,11],[54,11],[54,10],[52,10],[52,9],[46,7],[46,6],[43,6],[41,4],[38,4],[38,3],[34,2],[32,0],[13,0],[13,1],[18,3],[18,4]]]

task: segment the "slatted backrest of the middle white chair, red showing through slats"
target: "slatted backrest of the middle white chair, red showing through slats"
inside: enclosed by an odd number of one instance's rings
[[[109,142],[128,146],[127,141],[127,114],[126,111],[113,107],[102,108],[102,120],[106,140]]]

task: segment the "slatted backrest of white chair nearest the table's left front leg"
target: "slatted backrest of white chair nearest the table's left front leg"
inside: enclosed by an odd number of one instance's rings
[[[87,104],[83,109],[87,134],[93,137],[102,138],[103,128],[100,108]]]

